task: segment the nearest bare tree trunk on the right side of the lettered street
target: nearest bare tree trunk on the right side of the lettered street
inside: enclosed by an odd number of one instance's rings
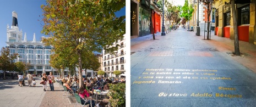
[[[232,9],[232,18],[233,18],[233,30],[234,30],[234,43],[235,43],[235,55],[240,56],[239,50],[239,40],[238,40],[238,31],[237,31],[237,15],[235,9],[235,0],[231,1],[231,9]]]

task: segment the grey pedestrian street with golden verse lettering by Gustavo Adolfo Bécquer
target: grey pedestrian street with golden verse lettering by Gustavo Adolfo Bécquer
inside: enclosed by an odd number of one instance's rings
[[[256,46],[240,42],[244,55],[233,57],[233,40],[213,33],[132,39],[131,106],[255,106]]]

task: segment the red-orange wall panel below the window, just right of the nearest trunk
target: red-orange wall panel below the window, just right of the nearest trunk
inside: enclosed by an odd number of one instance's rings
[[[239,41],[249,42],[249,26],[238,26]]]

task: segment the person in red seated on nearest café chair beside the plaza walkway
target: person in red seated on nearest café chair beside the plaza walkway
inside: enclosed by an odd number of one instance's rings
[[[81,104],[84,104],[84,103],[88,103],[90,104],[91,102],[91,106],[95,106],[95,103],[94,103],[94,100],[92,100],[90,97],[90,94],[88,93],[87,89],[86,89],[86,86],[85,85],[81,85],[81,87],[78,89],[78,92],[77,92],[81,98]],[[87,99],[87,102],[85,102],[85,100],[83,99]]]

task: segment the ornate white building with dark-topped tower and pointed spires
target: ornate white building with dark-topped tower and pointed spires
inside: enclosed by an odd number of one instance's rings
[[[12,26],[7,25],[6,48],[10,49],[10,54],[19,54],[13,63],[20,61],[30,64],[28,72],[31,74],[42,74],[43,71],[49,74],[52,71],[54,75],[58,75],[49,63],[52,47],[45,46],[41,41],[36,41],[35,33],[32,41],[27,40],[26,33],[23,40],[23,32],[18,27],[17,13],[13,12],[12,17]],[[67,71],[64,73],[67,75]]]

